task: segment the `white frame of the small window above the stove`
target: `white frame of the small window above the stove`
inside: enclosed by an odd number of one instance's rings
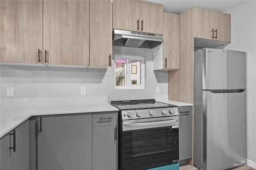
[[[126,81],[125,86],[116,86],[116,58],[124,58],[126,60]],[[140,60],[140,85],[132,85],[130,79],[131,63],[130,60]],[[114,55],[114,89],[145,89],[145,57],[135,55]]]

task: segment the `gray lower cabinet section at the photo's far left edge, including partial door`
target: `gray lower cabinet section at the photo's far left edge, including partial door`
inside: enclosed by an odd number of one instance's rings
[[[29,169],[28,120],[0,139],[0,169]],[[15,150],[15,152],[14,152]]]

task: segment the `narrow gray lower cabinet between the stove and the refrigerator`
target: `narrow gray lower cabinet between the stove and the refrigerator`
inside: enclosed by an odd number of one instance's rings
[[[178,107],[179,122],[179,159],[192,158],[192,106]]]

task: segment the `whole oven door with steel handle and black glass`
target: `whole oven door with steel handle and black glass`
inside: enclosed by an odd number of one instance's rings
[[[122,122],[122,170],[140,170],[178,162],[178,117]]]

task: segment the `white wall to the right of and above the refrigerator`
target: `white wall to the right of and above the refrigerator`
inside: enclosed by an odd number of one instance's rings
[[[231,14],[231,42],[224,49],[246,51],[247,158],[256,168],[256,1],[244,1]]]

